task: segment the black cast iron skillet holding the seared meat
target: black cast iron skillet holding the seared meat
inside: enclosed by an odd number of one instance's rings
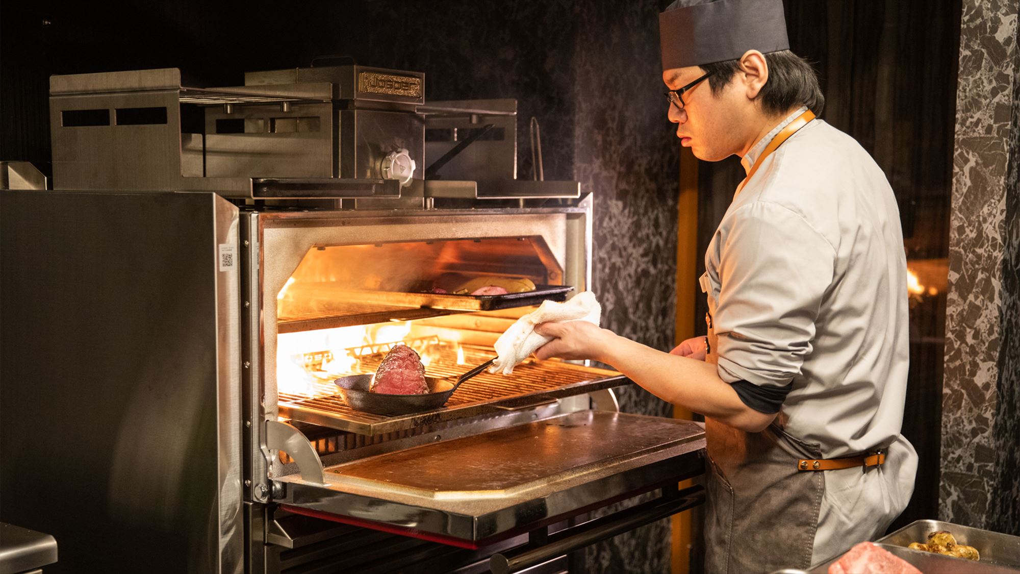
[[[464,381],[484,371],[496,358],[490,358],[481,365],[457,377],[456,384],[452,383],[449,377],[437,379],[425,377],[428,384],[428,391],[424,394],[384,394],[380,392],[369,392],[368,387],[372,383],[375,375],[349,375],[334,381],[344,394],[347,403],[358,411],[371,413],[373,415],[408,415],[410,413],[420,413],[431,411],[446,404],[447,399],[457,390],[457,387]]]

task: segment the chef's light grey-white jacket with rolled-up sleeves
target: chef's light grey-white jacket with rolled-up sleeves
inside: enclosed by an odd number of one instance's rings
[[[743,158],[750,172],[780,123]],[[853,138],[815,119],[761,159],[705,256],[726,382],[782,387],[777,421],[822,456],[883,447],[885,464],[825,471],[814,562],[873,539],[910,500],[907,260],[892,189]]]

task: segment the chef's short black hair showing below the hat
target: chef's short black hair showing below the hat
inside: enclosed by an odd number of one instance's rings
[[[789,50],[765,54],[768,80],[758,92],[758,99],[766,111],[782,113],[793,107],[808,106],[815,115],[825,107],[825,95],[818,85],[818,74],[808,60]],[[741,60],[726,60],[699,66],[706,74],[712,73],[708,83],[712,93],[719,95],[733,75],[741,69]]]

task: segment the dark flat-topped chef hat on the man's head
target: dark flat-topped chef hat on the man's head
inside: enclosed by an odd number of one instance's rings
[[[676,0],[659,14],[662,69],[789,49],[782,0]]]

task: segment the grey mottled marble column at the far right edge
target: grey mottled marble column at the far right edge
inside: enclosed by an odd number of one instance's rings
[[[978,527],[1001,518],[1003,442],[1012,441],[1006,457],[1016,450],[1018,414],[1000,401],[1016,389],[1004,372],[1016,365],[1003,343],[1018,320],[1010,302],[1017,292],[1004,277],[1008,168],[1018,130],[1017,12],[1016,0],[964,0],[961,19],[939,516]],[[1000,434],[1011,425],[1012,435]]]

